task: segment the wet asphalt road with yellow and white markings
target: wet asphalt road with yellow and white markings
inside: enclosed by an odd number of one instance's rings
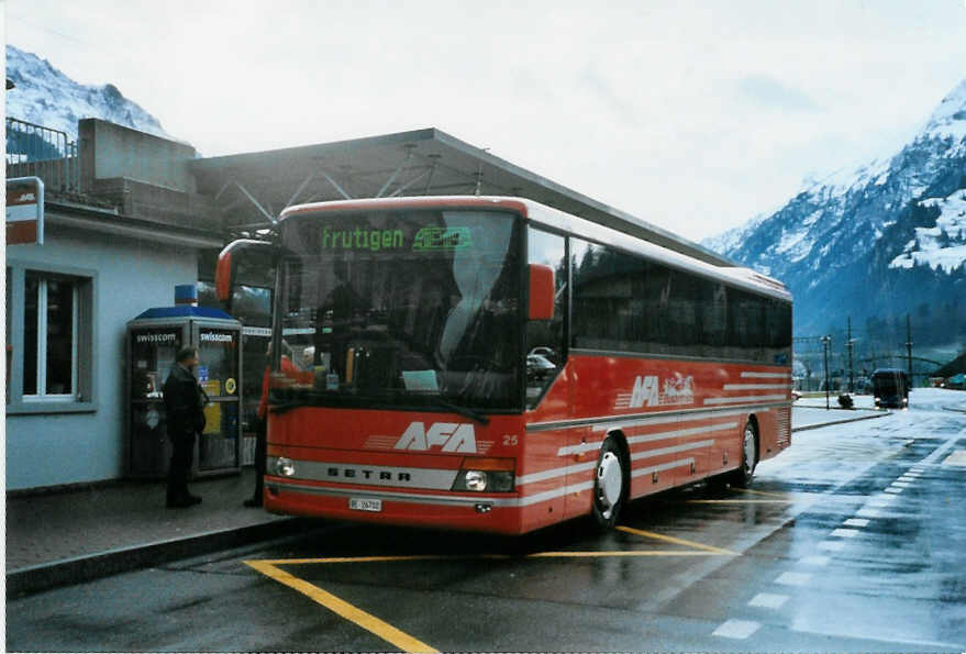
[[[609,534],[320,523],[12,600],[7,649],[963,652],[966,413],[950,397],[798,432],[752,491],[640,501]]]

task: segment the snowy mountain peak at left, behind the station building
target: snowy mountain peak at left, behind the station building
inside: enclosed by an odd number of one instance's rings
[[[77,140],[77,121],[100,118],[165,138],[156,118],[121,95],[111,84],[88,86],[74,81],[46,59],[7,46],[7,77],[16,88],[7,93],[7,117],[59,130]]]

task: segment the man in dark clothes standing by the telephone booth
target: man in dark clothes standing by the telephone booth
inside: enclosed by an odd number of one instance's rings
[[[195,457],[195,435],[204,431],[204,391],[192,374],[198,351],[181,347],[164,386],[168,437],[171,440],[171,465],[168,469],[169,509],[197,505],[201,498],[188,492],[188,475]]]

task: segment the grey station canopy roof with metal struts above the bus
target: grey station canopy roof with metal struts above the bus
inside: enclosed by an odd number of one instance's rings
[[[291,204],[401,196],[517,196],[693,256],[733,262],[434,128],[191,162],[236,235],[266,228]]]

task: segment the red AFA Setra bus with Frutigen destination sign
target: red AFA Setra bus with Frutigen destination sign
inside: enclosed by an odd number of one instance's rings
[[[277,268],[275,369],[299,367],[271,375],[270,512],[608,528],[790,444],[791,298],[750,269],[501,197],[288,208],[225,247],[221,297],[249,248]]]

